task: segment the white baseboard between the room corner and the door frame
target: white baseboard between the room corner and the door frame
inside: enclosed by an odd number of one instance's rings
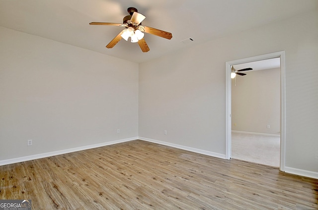
[[[196,149],[196,148],[192,148],[192,147],[172,144],[172,143],[168,143],[168,142],[162,142],[162,141],[158,141],[158,140],[154,140],[154,139],[148,139],[148,138],[144,138],[144,137],[139,137],[139,139],[143,140],[143,141],[147,141],[147,142],[160,144],[160,145],[174,147],[174,148],[181,149],[181,150],[186,150],[186,151],[190,151],[190,152],[194,152],[194,153],[199,153],[199,154],[203,154],[203,155],[207,155],[207,156],[212,156],[212,157],[218,157],[218,158],[225,159],[225,155],[219,154],[219,153],[213,153],[213,152],[206,151],[206,150],[200,150],[200,149]]]

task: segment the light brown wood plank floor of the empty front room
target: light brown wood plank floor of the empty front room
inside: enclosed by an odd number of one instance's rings
[[[0,166],[0,199],[32,210],[318,209],[318,180],[131,141]]]

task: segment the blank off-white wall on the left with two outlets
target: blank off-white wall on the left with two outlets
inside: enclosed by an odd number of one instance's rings
[[[0,160],[137,136],[137,63],[0,27]]]

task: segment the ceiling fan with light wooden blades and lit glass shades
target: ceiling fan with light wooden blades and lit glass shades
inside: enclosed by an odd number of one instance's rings
[[[122,38],[128,41],[131,38],[132,43],[138,42],[139,47],[143,52],[150,51],[145,39],[144,33],[153,34],[165,39],[171,39],[172,34],[166,31],[161,31],[159,29],[151,28],[148,26],[141,25],[141,22],[146,18],[134,7],[129,7],[127,9],[129,15],[123,18],[123,23],[101,23],[101,22],[91,22],[89,25],[110,25],[110,26],[122,26],[126,29],[122,30],[108,45],[106,48],[113,48]]]

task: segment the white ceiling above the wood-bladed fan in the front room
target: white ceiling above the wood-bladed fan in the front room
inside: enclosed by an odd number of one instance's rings
[[[123,39],[105,48],[123,28],[88,23],[122,23],[131,6],[146,16],[143,25],[172,39],[145,34],[146,53]],[[318,0],[0,0],[0,26],[140,63],[317,7]]]

